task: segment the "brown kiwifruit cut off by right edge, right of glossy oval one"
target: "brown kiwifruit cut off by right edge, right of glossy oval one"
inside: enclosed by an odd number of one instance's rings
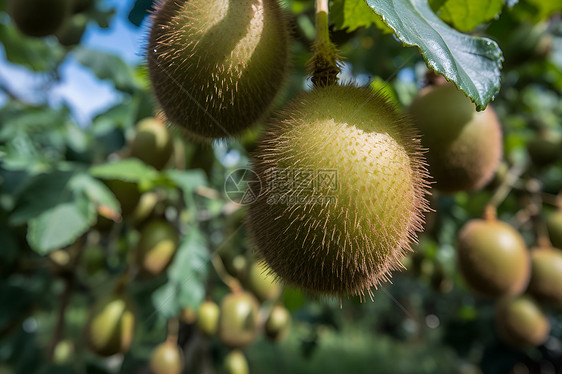
[[[562,307],[562,250],[535,248],[531,251],[529,293],[538,301]]]

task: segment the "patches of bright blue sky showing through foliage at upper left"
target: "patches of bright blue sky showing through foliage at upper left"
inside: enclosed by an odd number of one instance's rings
[[[147,26],[144,24],[137,28],[127,20],[133,4],[134,0],[105,0],[104,6],[115,7],[118,14],[109,29],[101,29],[90,23],[82,44],[90,49],[118,55],[128,63],[141,63]],[[61,70],[62,82],[53,88],[49,101],[55,105],[61,101],[67,102],[80,124],[87,124],[93,115],[119,100],[118,93],[110,83],[98,80],[74,59],[67,59]],[[0,48],[0,79],[21,97],[30,98],[44,76],[8,63]]]

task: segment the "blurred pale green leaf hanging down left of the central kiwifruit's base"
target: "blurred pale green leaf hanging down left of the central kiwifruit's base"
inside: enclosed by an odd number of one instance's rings
[[[168,269],[168,283],[152,296],[154,308],[161,315],[170,318],[185,307],[197,310],[205,298],[209,259],[205,236],[196,227],[192,227]]]

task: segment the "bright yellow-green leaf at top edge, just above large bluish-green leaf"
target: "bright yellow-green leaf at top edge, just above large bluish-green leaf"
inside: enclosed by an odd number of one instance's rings
[[[504,0],[447,0],[437,14],[457,30],[471,31],[495,18],[503,4]]]

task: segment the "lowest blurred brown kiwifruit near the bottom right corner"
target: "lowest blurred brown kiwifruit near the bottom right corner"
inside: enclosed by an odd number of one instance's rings
[[[543,344],[550,334],[550,322],[529,296],[518,296],[496,305],[496,329],[507,344],[527,348]]]

